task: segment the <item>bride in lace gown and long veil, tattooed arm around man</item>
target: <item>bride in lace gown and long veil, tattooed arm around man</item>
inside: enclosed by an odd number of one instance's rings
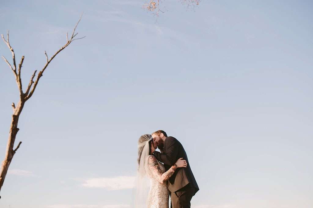
[[[168,170],[151,155],[151,149],[157,148],[150,134],[142,135],[138,140],[138,176],[136,185],[136,208],[168,208],[170,192],[167,180],[179,167],[187,167],[182,158]],[[150,181],[150,187],[148,182]]]

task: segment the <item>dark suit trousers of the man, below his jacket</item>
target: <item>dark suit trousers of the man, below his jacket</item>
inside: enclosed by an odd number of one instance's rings
[[[190,184],[171,192],[171,208],[190,208],[190,201],[195,194],[195,188],[190,187]]]

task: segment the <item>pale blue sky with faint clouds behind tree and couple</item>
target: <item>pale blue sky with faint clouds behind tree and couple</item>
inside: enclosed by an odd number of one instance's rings
[[[158,129],[187,151],[193,208],[313,207],[312,2],[164,0],[157,22],[144,2],[1,2],[24,86],[82,12],[86,38],[26,103],[0,207],[130,208],[137,140]],[[0,71],[2,161],[18,90]]]

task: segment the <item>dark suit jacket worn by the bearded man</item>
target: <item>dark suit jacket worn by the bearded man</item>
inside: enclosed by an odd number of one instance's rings
[[[195,194],[199,191],[199,187],[195,177],[192,174],[190,163],[187,158],[187,154],[182,144],[174,137],[167,137],[164,141],[164,153],[154,151],[152,153],[157,160],[164,163],[166,170],[170,169],[172,165],[179,158],[183,158],[187,161],[187,167],[177,168],[172,177],[168,180],[168,189],[171,192],[178,191],[182,187],[190,184],[190,187],[195,188]]]

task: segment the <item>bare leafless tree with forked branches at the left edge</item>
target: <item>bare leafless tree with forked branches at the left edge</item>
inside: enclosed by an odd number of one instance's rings
[[[14,74],[14,77],[15,77],[15,80],[16,80],[16,84],[18,85],[18,90],[19,90],[19,101],[18,101],[18,104],[15,106],[14,103],[12,103],[12,108],[13,108],[13,115],[12,115],[12,121],[11,121],[11,126],[10,126],[10,132],[9,132],[9,138],[8,138],[8,144],[7,144],[7,149],[6,149],[6,153],[5,153],[5,158],[2,162],[2,165],[1,165],[1,175],[0,175],[0,191],[1,191],[1,188],[3,186],[3,182],[4,182],[4,179],[7,175],[7,172],[8,172],[8,168],[9,168],[9,165],[12,161],[12,158],[14,156],[14,154],[16,153],[16,151],[18,150],[18,148],[20,147],[21,143],[22,142],[19,142],[17,147],[15,149],[13,149],[14,147],[14,142],[15,142],[15,137],[16,137],[16,134],[18,133],[18,118],[23,110],[23,107],[24,107],[24,104],[25,102],[32,97],[37,85],[38,85],[38,82],[39,82],[39,79],[40,77],[43,76],[43,73],[44,73],[44,70],[47,68],[47,66],[49,65],[49,63],[54,59],[54,57],[59,54],[59,52],[61,52],[64,48],[66,48],[67,46],[69,46],[69,44],[71,42],[73,42],[74,40],[78,40],[78,39],[82,39],[84,37],[80,37],[80,38],[74,38],[78,33],[75,33],[75,30],[76,30],[76,27],[78,25],[78,23],[80,22],[81,20],[81,17],[80,16],[80,19],[79,21],[76,23],[75,27],[74,27],[74,30],[72,32],[72,35],[68,36],[68,33],[66,33],[66,43],[64,46],[62,46],[57,52],[55,52],[55,54],[53,56],[51,56],[50,58],[48,57],[46,51],[44,51],[44,54],[46,56],[46,59],[47,59],[47,62],[46,64],[44,65],[44,68],[42,70],[40,70],[38,72],[38,75],[34,81],[34,78],[36,76],[36,72],[37,70],[34,71],[33,75],[31,76],[30,80],[29,80],[29,83],[28,83],[28,86],[27,86],[27,89],[26,89],[26,92],[23,92],[23,89],[22,89],[22,80],[21,80],[21,68],[22,68],[22,65],[23,65],[23,61],[24,61],[24,56],[22,56],[21,60],[20,60],[20,63],[18,64],[18,66],[16,66],[16,62],[15,62],[15,53],[13,51],[13,48],[12,46],[10,45],[10,42],[9,42],[9,31],[8,31],[8,36],[7,36],[7,40],[5,40],[4,36],[2,36],[2,39],[3,41],[7,44],[8,48],[10,49],[10,51],[12,52],[12,58],[13,58],[13,66],[9,63],[9,61],[4,57],[2,56],[2,58],[4,59],[4,61],[9,65],[10,69],[13,71],[13,74]],[[0,196],[1,198],[1,196]]]

